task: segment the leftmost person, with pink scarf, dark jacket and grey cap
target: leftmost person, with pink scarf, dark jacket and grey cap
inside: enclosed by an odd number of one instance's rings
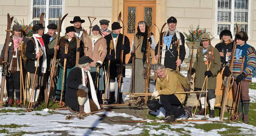
[[[9,51],[8,51],[8,58],[7,62],[9,63],[10,67],[8,71],[10,71],[10,76],[6,76],[6,90],[7,96],[9,98],[7,106],[13,105],[13,91],[15,90],[16,96],[16,105],[18,106],[21,103],[20,98],[20,44],[25,45],[28,42],[28,38],[23,36],[22,28],[20,25],[14,24],[12,26],[12,35],[10,36],[10,44],[9,44]],[[4,43],[4,47],[1,52],[0,56],[0,64],[3,64],[4,61],[4,52],[5,47],[8,46]],[[6,66],[6,65],[5,65]],[[23,65],[24,66],[24,65]]]

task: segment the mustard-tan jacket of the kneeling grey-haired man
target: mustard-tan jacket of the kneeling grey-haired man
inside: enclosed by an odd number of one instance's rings
[[[156,79],[156,90],[158,90],[160,95],[161,94],[169,95],[169,94],[174,94],[175,92],[185,92],[181,87],[180,81],[169,68],[165,69],[164,78],[158,77]],[[184,102],[186,94],[174,94],[174,95],[180,100],[180,103]]]

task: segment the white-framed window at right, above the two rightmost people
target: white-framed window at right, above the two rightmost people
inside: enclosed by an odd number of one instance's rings
[[[222,30],[228,29],[232,35],[236,34],[236,23],[241,26],[239,31],[250,35],[250,6],[251,0],[216,0],[216,30],[220,35]]]

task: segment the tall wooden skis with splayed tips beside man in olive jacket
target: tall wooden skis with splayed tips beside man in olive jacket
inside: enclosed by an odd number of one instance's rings
[[[53,82],[53,75],[54,75],[54,71],[55,71],[55,60],[56,60],[56,57],[57,57],[57,46],[59,45],[59,41],[60,41],[60,31],[61,31],[61,24],[63,22],[63,20],[65,19],[65,17],[68,16],[68,14],[64,15],[61,19],[60,19],[60,16],[59,14],[57,14],[58,18],[59,18],[59,27],[58,27],[58,34],[57,34],[57,38],[56,38],[56,44],[55,44],[55,51],[54,51],[54,56],[53,56],[53,59],[52,59],[52,70],[51,70],[51,76],[50,76],[50,86],[49,86],[49,94],[48,94],[48,98],[47,98],[47,103],[46,103],[46,108],[49,107],[49,98],[50,98],[50,95],[51,95],[51,89],[52,89],[52,82]]]

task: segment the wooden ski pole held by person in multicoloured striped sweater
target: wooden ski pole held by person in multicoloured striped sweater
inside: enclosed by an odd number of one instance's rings
[[[244,61],[245,61],[245,56],[243,57],[243,62],[242,62],[240,74],[242,74],[243,70],[244,70]],[[242,86],[241,82],[239,82],[238,85],[237,85],[237,88],[236,88],[236,100],[235,100],[234,108],[233,108],[231,116],[228,118],[229,121],[238,120],[238,114],[237,113],[238,113],[238,106],[239,106],[240,95],[241,95],[241,86]],[[238,98],[238,101],[237,101],[237,98]],[[236,103],[237,103],[237,110],[236,110],[236,113],[235,113]]]

